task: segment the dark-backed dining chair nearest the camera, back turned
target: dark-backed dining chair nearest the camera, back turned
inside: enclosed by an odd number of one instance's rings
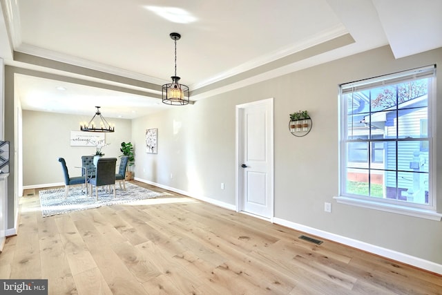
[[[117,158],[100,158],[97,162],[95,176],[88,179],[89,192],[92,197],[92,187],[95,187],[95,200],[98,200],[98,187],[112,186],[113,197],[115,198],[115,167]],[[110,189],[109,189],[110,192]]]

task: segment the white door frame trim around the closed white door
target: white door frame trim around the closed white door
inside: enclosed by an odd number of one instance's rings
[[[273,222],[273,217],[275,215],[275,211],[274,211],[274,188],[275,188],[275,180],[274,180],[274,142],[273,142],[273,134],[274,134],[274,127],[273,127],[273,97],[271,98],[267,98],[267,99],[262,99],[262,100],[258,100],[256,102],[248,102],[245,104],[238,104],[236,105],[236,170],[235,170],[235,176],[236,176],[236,211],[237,212],[242,212],[242,213],[246,213],[245,211],[243,211],[243,195],[242,195],[242,191],[243,191],[243,178],[242,178],[242,167],[241,164],[243,162],[244,159],[244,155],[242,154],[243,151],[243,146],[242,146],[242,137],[244,136],[243,134],[243,129],[242,129],[242,122],[243,122],[243,117],[244,117],[244,109],[248,108],[250,106],[258,106],[260,104],[267,104],[270,106],[270,134],[269,134],[269,140],[270,140],[270,156],[269,156],[269,161],[270,161],[270,185],[271,185],[271,196],[270,196],[270,218],[265,218],[265,217],[261,217],[261,216],[256,216],[257,218],[262,218],[265,220],[270,220],[271,222]]]

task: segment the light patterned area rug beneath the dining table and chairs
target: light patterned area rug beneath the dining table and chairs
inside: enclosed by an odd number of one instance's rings
[[[126,190],[119,189],[119,186],[115,185],[115,199],[113,198],[112,191],[111,193],[106,193],[106,191],[102,189],[98,191],[98,200],[95,200],[95,189],[93,190],[94,193],[91,198],[90,196],[86,196],[84,191],[81,191],[80,186],[71,187],[66,200],[64,198],[64,187],[39,191],[41,215],[47,217],[102,206],[111,206],[113,204],[125,204],[137,200],[156,198],[166,194],[157,193],[128,182],[126,182]]]

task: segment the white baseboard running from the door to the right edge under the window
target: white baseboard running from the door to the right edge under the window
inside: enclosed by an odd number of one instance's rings
[[[354,240],[352,238],[347,238],[345,236],[340,236],[337,234],[332,234],[327,231],[322,231],[320,229],[315,229],[313,227],[307,227],[305,225],[300,225],[296,222],[287,221],[281,218],[273,218],[273,222],[278,225],[283,225],[285,227],[289,227],[291,229],[295,229],[297,231],[302,231],[307,234],[311,234],[314,236],[318,236],[320,238],[325,238],[327,240],[332,240],[334,242],[338,242],[343,245],[347,245],[350,247],[354,247],[356,249],[360,249],[363,251],[367,251],[372,254],[376,254],[379,256],[383,256],[385,258],[389,258],[392,260],[396,260],[401,263],[405,263],[407,265],[412,265],[414,267],[419,267],[421,269],[425,269],[428,272],[434,272],[436,274],[442,275],[442,265],[438,263],[433,263],[432,261],[425,260],[422,258],[418,258],[415,256],[411,256],[408,254],[404,254],[398,251],[394,251],[391,249],[386,249],[383,247],[378,247],[376,245],[369,244],[367,242],[362,242],[360,240]]]

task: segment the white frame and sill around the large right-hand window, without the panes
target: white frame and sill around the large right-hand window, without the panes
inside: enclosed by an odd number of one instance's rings
[[[432,71],[432,73],[430,73]],[[430,75],[429,75],[430,73]],[[352,196],[344,194],[343,190],[347,182],[345,175],[345,167],[347,166],[347,149],[345,149],[346,141],[343,136],[346,135],[347,129],[347,101],[343,99],[343,89],[363,89],[374,88],[377,85],[382,86],[385,82],[390,84],[398,84],[401,80],[405,81],[410,78],[432,77],[432,87],[428,93],[427,119],[428,119],[428,139],[429,139],[429,199],[428,205],[416,203],[398,202],[397,200],[377,199],[373,197]],[[433,139],[436,135],[436,66],[426,66],[414,70],[407,70],[401,73],[383,75],[372,79],[364,79],[357,82],[341,84],[339,87],[339,195],[334,197],[338,203],[349,204],[357,207],[376,209],[391,213],[399,213],[407,216],[418,218],[426,218],[430,220],[442,220],[442,213],[436,212],[436,158],[434,157],[435,149],[433,148]]]

